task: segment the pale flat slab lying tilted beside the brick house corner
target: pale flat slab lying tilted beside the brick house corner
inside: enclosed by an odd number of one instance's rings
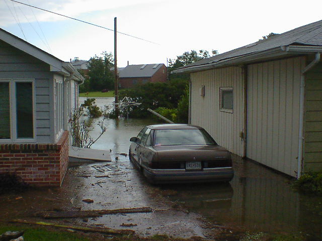
[[[70,162],[110,162],[112,160],[109,151],[73,146],[69,146],[68,156]]]

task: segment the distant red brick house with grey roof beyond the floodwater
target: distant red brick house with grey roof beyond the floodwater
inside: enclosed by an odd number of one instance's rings
[[[147,82],[166,82],[167,67],[164,64],[128,65],[119,73],[121,88],[131,88]]]

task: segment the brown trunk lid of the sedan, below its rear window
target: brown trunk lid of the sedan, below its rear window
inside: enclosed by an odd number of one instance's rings
[[[210,161],[230,158],[220,146],[160,146],[153,147],[158,161]]]

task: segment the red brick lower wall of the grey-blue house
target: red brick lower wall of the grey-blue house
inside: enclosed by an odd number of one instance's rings
[[[0,144],[0,173],[15,173],[31,185],[60,186],[67,165],[67,131],[57,144]]]

